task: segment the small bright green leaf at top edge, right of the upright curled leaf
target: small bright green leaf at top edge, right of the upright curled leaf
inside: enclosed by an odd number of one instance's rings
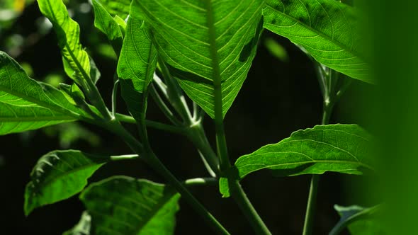
[[[92,2],[94,8],[94,26],[108,37],[115,51],[119,53],[120,47],[122,47],[123,35],[118,22],[106,11],[100,1],[93,0]]]

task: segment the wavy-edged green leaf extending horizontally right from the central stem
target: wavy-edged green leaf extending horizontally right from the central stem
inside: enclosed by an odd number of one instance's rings
[[[230,171],[240,180],[264,168],[277,176],[322,174],[334,171],[362,174],[373,169],[370,135],[358,125],[317,125],[293,132],[277,144],[269,144],[252,154],[239,157]],[[226,178],[220,179],[220,191],[229,196]]]

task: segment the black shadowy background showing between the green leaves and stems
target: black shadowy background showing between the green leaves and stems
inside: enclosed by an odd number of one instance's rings
[[[77,1],[72,1],[69,8],[74,12],[73,18],[81,25],[81,42],[88,48],[89,55],[101,71],[98,86],[109,104],[116,61],[104,57],[100,51],[98,45],[105,43],[106,38],[94,28],[92,13],[79,11]],[[30,64],[34,79],[43,80],[51,72],[64,76],[55,33],[39,33],[37,22],[40,17],[36,3],[28,6],[21,17],[0,31],[0,49],[9,52],[18,62]],[[21,35],[24,40],[17,49],[11,46],[10,36],[14,34]],[[287,62],[269,53],[264,46],[266,38],[273,38],[286,49]],[[370,86],[354,81],[335,108],[331,123],[361,125],[361,115],[358,115],[357,110],[364,104],[358,94],[370,89]],[[118,107],[119,113],[125,112],[123,103],[119,103]],[[167,122],[152,99],[149,100],[148,110],[148,119]],[[225,118],[232,162],[265,144],[279,142],[295,130],[319,124],[321,115],[322,96],[312,62],[285,38],[265,31],[248,78]],[[213,144],[213,121],[205,117],[204,124]],[[91,125],[83,124],[82,127],[95,133],[100,144],[81,138],[64,147],[59,135],[54,134],[60,133],[59,127],[47,132],[37,130],[0,137],[0,234],[61,234],[78,222],[84,207],[77,196],[36,209],[29,217],[24,216],[24,188],[31,168],[43,154],[55,149],[81,149],[96,154],[130,154],[130,149],[121,139],[109,132]],[[196,149],[187,139],[158,130],[149,130],[149,137],[157,156],[179,179],[208,176]],[[164,183],[162,178],[140,161],[107,164],[89,182],[115,174]],[[337,223],[339,216],[333,209],[334,204],[371,205],[370,200],[364,197],[370,191],[363,187],[365,179],[336,173],[322,176],[314,234],[327,234]],[[309,181],[310,176],[273,178],[269,171],[259,171],[247,176],[242,184],[273,234],[301,234]],[[222,199],[215,185],[196,186],[191,191],[232,234],[252,234],[251,227],[235,202]],[[213,234],[191,207],[182,200],[180,203],[176,234]]]

